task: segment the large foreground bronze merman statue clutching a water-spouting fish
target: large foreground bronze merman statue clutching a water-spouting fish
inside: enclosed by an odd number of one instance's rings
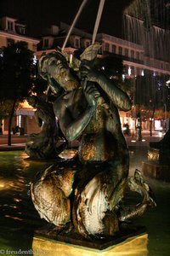
[[[80,139],[80,145],[77,166],[62,163],[62,172],[59,165],[51,166],[31,184],[35,207],[43,218],[55,224],[55,230],[62,231],[70,223],[87,238],[113,236],[122,221],[143,214],[145,206],[155,203],[139,172],[135,172],[133,180],[127,179],[129,155],[118,109],[130,110],[131,102],[124,91],[94,69],[98,49],[99,45],[94,44],[85,50],[76,74],[62,51],[42,55],[39,61],[42,77],[48,79],[51,90],[58,95],[54,113],[61,131],[68,141]],[[69,183],[67,193],[65,178]],[[121,207],[127,185],[144,195],[138,209]],[[41,186],[43,195],[39,192]],[[49,195],[48,187],[54,188],[55,197]],[[49,201],[53,203],[48,204]],[[54,210],[59,202],[62,213]],[[53,206],[49,214],[42,204]]]

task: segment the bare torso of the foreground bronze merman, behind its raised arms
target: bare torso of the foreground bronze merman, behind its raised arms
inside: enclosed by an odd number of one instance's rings
[[[64,119],[79,119],[83,111],[87,108],[87,102],[83,90],[74,90],[59,97],[54,103],[54,112],[59,118],[59,122]],[[61,110],[61,106],[65,108]],[[69,113],[69,117],[66,116]],[[105,106],[98,105],[87,127],[83,131],[79,157],[82,161],[107,161],[113,160],[117,152],[117,139],[114,127],[116,127],[116,114],[111,113]],[[60,124],[59,124],[60,125]],[[117,124],[119,125],[119,124]],[[60,125],[61,127],[62,125]],[[65,131],[63,131],[65,134]]]

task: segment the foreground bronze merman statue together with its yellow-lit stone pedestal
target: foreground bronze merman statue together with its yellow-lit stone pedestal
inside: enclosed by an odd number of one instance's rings
[[[75,61],[77,73],[69,67],[61,49],[42,55],[39,61],[40,74],[57,94],[53,111],[65,138],[70,142],[77,138],[80,141],[78,154],[73,158],[55,160],[51,165],[48,157],[48,162],[38,167],[40,172],[33,182],[31,177],[33,204],[49,223],[34,234],[32,248],[39,254],[54,255],[57,250],[61,255],[68,255],[68,252],[69,255],[111,255],[140,245],[140,241],[146,245],[143,225],[129,221],[143,215],[147,207],[155,207],[156,203],[138,169],[132,177],[128,176],[129,153],[118,108],[128,111],[131,102],[116,84],[94,69],[98,50],[99,44],[93,44],[82,53],[80,60]],[[48,129],[45,135],[49,138]],[[129,189],[142,195],[138,204],[136,193],[132,192],[135,203],[129,205],[129,198],[130,202],[132,199],[127,196]],[[36,228],[41,224],[47,223],[41,221]],[[120,247],[114,247],[115,244]],[[145,247],[144,251],[140,249],[139,246],[138,255],[147,254]]]

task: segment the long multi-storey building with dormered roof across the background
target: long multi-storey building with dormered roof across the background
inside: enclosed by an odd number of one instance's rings
[[[142,23],[141,20],[138,20],[138,22]],[[25,41],[28,44],[28,49],[31,49],[35,52],[37,60],[42,55],[42,53],[54,51],[54,49],[57,47],[62,48],[64,44],[65,52],[69,55],[71,60],[72,56],[76,55],[78,50],[81,51],[86,49],[90,44],[92,44],[93,35],[89,32],[82,31],[77,28],[72,29],[70,37],[65,42],[65,38],[70,30],[70,26],[63,22],[60,22],[59,26],[53,25],[47,29],[44,28],[44,34],[41,40],[26,37],[26,26],[20,24],[18,20],[9,17],[3,17],[1,24],[2,27],[0,31],[0,47],[3,45],[7,46],[8,44],[12,44],[13,42],[17,41]],[[130,24],[132,24],[132,22],[130,22]],[[129,29],[132,29],[132,27]],[[153,36],[153,30],[155,32],[159,31],[161,34],[165,32],[162,28],[154,26],[152,29],[150,29],[150,32],[146,32],[148,40]],[[144,34],[144,32],[141,33]],[[167,55],[163,55],[163,51],[161,52],[161,50],[160,55],[149,54],[148,44],[146,44],[146,41],[145,44],[144,40],[142,39],[136,40],[135,42],[134,41],[135,40],[131,40],[130,38],[128,38],[128,40],[127,38],[116,38],[105,33],[99,33],[96,37],[96,42],[101,44],[101,50],[99,54],[115,55],[120,58],[124,66],[122,79],[127,78],[132,80],[133,111],[130,113],[120,112],[122,125],[128,123],[131,129],[135,129],[136,117],[138,113],[143,111],[143,105],[146,106],[146,108],[150,108],[150,111],[151,108],[156,107],[153,106],[153,104],[157,104],[157,106],[162,105],[161,107],[166,111],[168,96],[167,88],[166,92],[162,88],[165,87],[166,81],[170,77],[170,59],[167,58]],[[163,42],[161,45],[162,44]],[[153,44],[152,47],[154,47]],[[156,95],[155,93],[155,86],[159,86],[156,88],[159,90],[158,93],[160,94],[161,99],[164,100],[164,103],[161,102],[160,105],[158,104],[158,101],[156,103],[158,94]],[[24,112],[22,108],[20,108],[20,110],[17,112],[18,121],[16,122],[16,125],[20,124],[19,116],[22,116],[22,113]],[[27,113],[28,114],[26,114],[26,116],[32,116],[31,111]],[[148,121],[148,118],[149,117],[146,116],[145,122],[143,122],[144,129],[149,129],[150,121]],[[28,122],[25,123],[28,124]],[[26,133],[30,133],[28,125],[25,126]]]

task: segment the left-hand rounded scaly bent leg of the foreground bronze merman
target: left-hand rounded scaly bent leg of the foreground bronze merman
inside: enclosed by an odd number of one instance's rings
[[[62,230],[71,220],[69,195],[73,179],[71,169],[50,166],[31,183],[31,197],[37,212],[58,230]]]

